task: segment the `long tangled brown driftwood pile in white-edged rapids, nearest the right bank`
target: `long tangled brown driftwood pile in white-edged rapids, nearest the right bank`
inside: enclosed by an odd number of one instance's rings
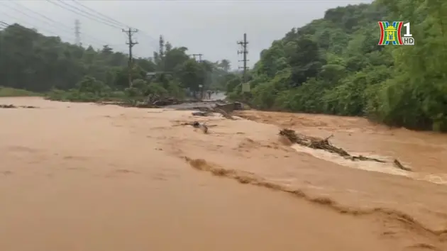
[[[344,157],[345,159],[348,159],[348,160],[353,160],[353,161],[355,161],[355,160],[369,160],[369,161],[386,163],[385,160],[378,160],[373,157],[365,157],[362,155],[358,155],[358,156],[350,155],[348,152],[346,152],[346,150],[343,150],[343,148],[336,147],[329,142],[329,138],[332,138],[333,135],[329,136],[328,138],[321,139],[321,138],[309,137],[307,135],[300,135],[298,133],[295,133],[294,130],[290,130],[290,129],[280,130],[280,135],[286,137],[292,143],[297,143],[299,145],[303,145],[305,147],[310,147],[313,149],[320,149],[320,150],[332,152],[332,153],[340,155],[341,157]],[[393,164],[396,167],[398,167],[399,169],[403,169],[405,171],[411,171],[411,169],[404,167],[399,162],[399,160],[394,160]]]

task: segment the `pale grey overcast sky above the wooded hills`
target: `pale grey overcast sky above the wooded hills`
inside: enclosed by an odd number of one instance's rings
[[[322,18],[327,9],[371,0],[51,1],[0,0],[0,21],[21,23],[75,43],[75,20],[79,19],[83,45],[100,48],[107,43],[122,52],[127,49],[121,28],[131,26],[140,30],[135,35],[139,42],[134,47],[137,56],[152,57],[162,34],[172,45],[189,48],[190,54],[202,53],[205,60],[211,61],[225,58],[236,68],[241,64],[236,42],[243,38],[243,33],[247,33],[249,65],[253,65],[261,50],[293,27]],[[99,20],[96,13],[79,2],[126,26]]]

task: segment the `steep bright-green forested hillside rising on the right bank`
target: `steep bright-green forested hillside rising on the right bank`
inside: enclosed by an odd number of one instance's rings
[[[414,46],[377,45],[377,21],[409,21]],[[255,107],[368,116],[388,125],[447,130],[447,2],[375,1],[326,11],[261,53],[250,95]]]

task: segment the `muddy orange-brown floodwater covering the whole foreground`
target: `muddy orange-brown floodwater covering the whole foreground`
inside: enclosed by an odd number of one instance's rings
[[[447,135],[337,116],[0,104],[39,107],[0,108],[0,250],[447,250]],[[280,128],[412,171],[284,145]]]

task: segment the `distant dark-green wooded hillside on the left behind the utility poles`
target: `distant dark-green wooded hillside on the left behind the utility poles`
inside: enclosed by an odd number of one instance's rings
[[[102,50],[82,48],[18,24],[0,30],[3,87],[107,95],[129,87],[127,66],[128,55],[114,52],[108,45]],[[148,72],[158,73],[146,76]],[[228,60],[197,62],[187,55],[187,48],[174,47],[161,37],[159,51],[152,59],[135,60],[132,76],[135,87],[140,88],[134,92],[173,96],[182,96],[184,89],[199,92],[199,84],[204,84],[205,89],[223,89],[228,79],[236,77],[230,72]]]

